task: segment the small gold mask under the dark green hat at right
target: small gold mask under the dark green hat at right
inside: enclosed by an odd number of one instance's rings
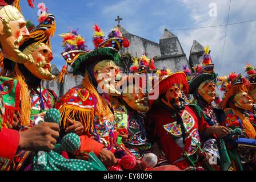
[[[211,103],[215,100],[215,84],[213,81],[205,81],[198,87],[198,94],[203,97],[207,103]]]

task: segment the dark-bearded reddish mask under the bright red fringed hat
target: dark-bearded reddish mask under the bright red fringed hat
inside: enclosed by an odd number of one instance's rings
[[[185,109],[185,98],[182,90],[178,85],[171,86],[165,94],[162,94],[161,101],[163,104],[171,107],[174,110]]]

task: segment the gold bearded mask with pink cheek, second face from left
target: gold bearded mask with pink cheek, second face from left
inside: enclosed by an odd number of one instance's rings
[[[51,49],[44,43],[34,43],[27,46],[22,53],[31,57],[34,63],[24,63],[25,67],[41,80],[53,80],[54,75],[51,74],[51,60],[53,53]]]

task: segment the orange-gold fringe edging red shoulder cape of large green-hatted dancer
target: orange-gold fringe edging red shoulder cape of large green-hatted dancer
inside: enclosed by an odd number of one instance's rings
[[[61,122],[59,125],[68,127],[67,119],[71,119],[73,121],[79,121],[82,123],[84,130],[89,131],[91,127],[91,131],[94,130],[94,108],[81,108],[75,107],[71,105],[62,106],[59,109],[61,113]]]

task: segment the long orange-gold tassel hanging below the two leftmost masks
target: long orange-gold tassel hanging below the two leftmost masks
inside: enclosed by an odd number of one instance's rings
[[[18,65],[16,64],[14,67],[15,78],[21,84],[21,109],[19,109],[19,117],[21,118],[22,126],[30,126],[30,109],[31,109],[31,101],[29,96],[29,88],[27,88],[27,84],[25,82],[25,78],[22,73],[19,71]]]

